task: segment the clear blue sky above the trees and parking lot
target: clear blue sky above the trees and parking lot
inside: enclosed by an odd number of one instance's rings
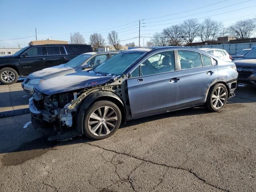
[[[210,4],[214,5],[208,6]],[[200,8],[202,6],[207,7]],[[108,32],[116,30],[121,44],[135,42],[138,45],[138,38],[127,40],[138,36],[138,20],[159,17],[141,21],[141,35],[146,45],[150,39],[147,37],[154,32],[189,18],[202,21],[210,17],[227,27],[236,20],[256,16],[255,10],[256,0],[0,0],[0,47],[27,46],[35,37],[8,39],[34,36],[35,28],[38,40],[69,41],[70,32],[79,31],[89,43],[91,32],[98,31],[107,42]],[[140,42],[142,46],[143,37]]]

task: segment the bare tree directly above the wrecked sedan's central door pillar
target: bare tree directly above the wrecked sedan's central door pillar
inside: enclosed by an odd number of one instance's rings
[[[181,46],[182,45],[182,28],[180,25],[173,25],[163,30],[165,36],[169,37],[170,45]]]

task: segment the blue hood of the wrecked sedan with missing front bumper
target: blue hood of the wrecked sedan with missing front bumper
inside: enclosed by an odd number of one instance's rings
[[[97,74],[91,74],[87,71],[82,71],[45,80],[37,84],[35,88],[46,95],[53,95],[105,84],[111,78],[112,76],[100,76]]]

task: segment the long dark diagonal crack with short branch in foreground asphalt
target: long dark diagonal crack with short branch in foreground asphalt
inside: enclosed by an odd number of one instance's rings
[[[212,186],[212,187],[214,187],[214,188],[216,188],[216,189],[218,189],[218,190],[224,191],[224,192],[230,192],[229,190],[226,190],[226,189],[224,189],[224,188],[220,188],[220,187],[218,187],[218,186],[214,186],[214,185],[208,183],[205,179],[203,179],[203,178],[201,178],[200,176],[198,176],[198,174],[196,174],[196,173],[193,172],[192,170],[187,170],[187,169],[181,168],[181,167],[169,166],[169,165],[166,165],[166,164],[161,164],[161,163],[157,163],[157,162],[152,162],[152,161],[150,161],[150,160],[145,160],[145,159],[136,157],[136,156],[131,155],[131,154],[126,154],[126,153],[124,153],[124,152],[117,152],[117,151],[110,150],[110,149],[107,149],[107,148],[104,148],[104,147],[101,147],[101,146],[97,146],[97,145],[94,145],[94,144],[91,144],[91,143],[85,143],[85,144],[90,145],[90,146],[94,146],[94,147],[98,147],[98,148],[103,149],[103,150],[106,150],[106,151],[114,152],[114,153],[116,153],[116,154],[122,154],[122,155],[125,155],[125,156],[129,156],[129,157],[135,158],[135,159],[137,159],[137,160],[142,160],[142,161],[144,161],[144,162],[152,163],[152,164],[155,164],[155,165],[165,166],[165,167],[167,167],[167,168],[173,168],[173,169],[178,169],[178,170],[183,170],[183,171],[186,171],[186,172],[188,172],[188,173],[190,173],[190,174],[193,174],[198,180],[204,182],[205,184],[207,184],[207,185],[209,185],[209,186]],[[140,165],[139,165],[139,166],[140,166]],[[137,168],[138,168],[139,166],[137,166]],[[136,168],[135,168],[134,170],[136,170]],[[133,171],[134,171],[134,170],[133,170]],[[133,171],[132,171],[132,172],[133,172]],[[130,173],[130,174],[132,174],[132,173]],[[130,176],[130,174],[129,174],[129,176]],[[129,177],[129,176],[128,176],[128,177]],[[128,180],[129,180],[129,179],[128,179]],[[130,180],[129,180],[129,182],[131,183]],[[132,189],[133,189],[134,191],[136,191],[136,190],[134,189],[134,186],[133,186],[133,185],[131,185],[131,186],[132,186]]]

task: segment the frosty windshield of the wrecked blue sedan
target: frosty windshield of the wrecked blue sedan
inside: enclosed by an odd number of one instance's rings
[[[95,73],[121,75],[146,52],[144,51],[124,51],[116,54],[112,58],[104,61],[102,64],[93,69]]]

